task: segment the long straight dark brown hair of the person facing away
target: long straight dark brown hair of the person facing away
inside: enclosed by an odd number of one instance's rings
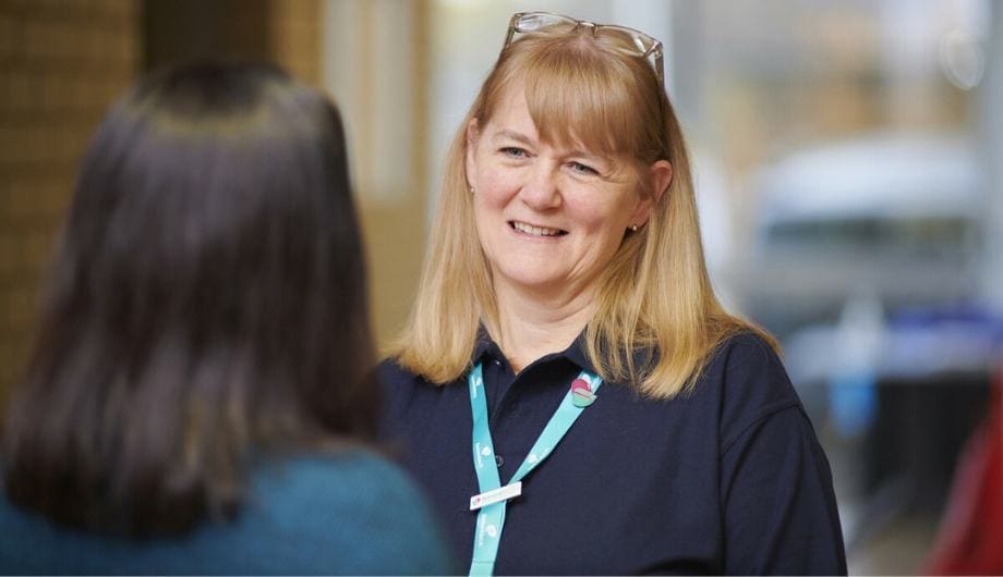
[[[266,65],[147,77],[85,158],[8,494],[131,533],[233,511],[254,455],[372,433],[366,315],[334,106]]]

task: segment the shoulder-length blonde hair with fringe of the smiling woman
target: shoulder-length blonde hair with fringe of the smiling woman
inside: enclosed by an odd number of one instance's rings
[[[584,33],[584,34],[583,34]],[[464,169],[467,126],[491,120],[508,87],[523,81],[544,142],[583,143],[641,170],[664,159],[670,185],[648,224],[627,233],[600,279],[585,352],[606,380],[653,398],[691,390],[715,347],[754,324],[727,314],[711,287],[686,143],[651,64],[609,35],[543,32],[506,47],[446,157],[418,297],[391,356],[406,370],[445,384],[470,369],[481,323],[497,336],[498,310],[481,250]],[[646,179],[639,194],[651,195]]]

